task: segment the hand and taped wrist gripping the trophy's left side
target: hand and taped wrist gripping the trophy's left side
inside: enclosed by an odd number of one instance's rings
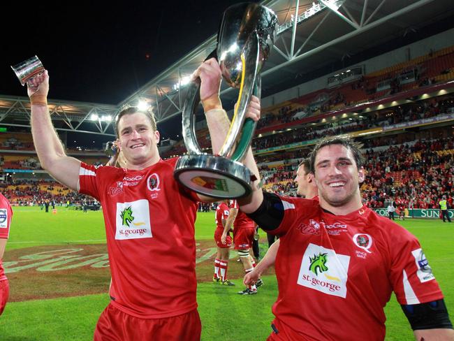
[[[200,78],[200,101],[202,101],[205,113],[212,109],[222,109],[219,99],[221,87],[221,68],[216,59],[204,61],[193,73],[192,78]]]

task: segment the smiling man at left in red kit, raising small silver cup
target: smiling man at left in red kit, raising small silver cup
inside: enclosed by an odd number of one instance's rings
[[[194,74],[201,80],[200,99],[210,133],[217,119],[226,117],[219,99],[221,71],[213,64],[207,61]],[[47,108],[47,71],[29,80],[27,87],[41,166],[103,206],[111,300],[98,320],[94,340],[200,340],[194,222],[197,202],[214,200],[176,182],[177,159],[160,158],[160,136],[151,113],[138,108],[119,113],[118,146],[126,168],[96,168],[66,156]],[[214,143],[213,149],[220,145]]]

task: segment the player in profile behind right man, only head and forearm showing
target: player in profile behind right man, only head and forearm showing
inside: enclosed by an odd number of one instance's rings
[[[303,198],[316,198],[318,196],[318,189],[315,184],[314,174],[311,173],[311,167],[309,159],[303,159],[296,170],[295,182],[298,185],[296,194]],[[244,276],[243,283],[246,286],[255,284],[262,273],[273,266],[276,261],[277,252],[279,250],[280,241],[279,239],[274,242],[268,251],[266,252],[263,259],[257,264],[257,266],[250,273]]]

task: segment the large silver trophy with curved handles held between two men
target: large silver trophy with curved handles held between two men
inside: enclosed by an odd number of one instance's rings
[[[239,3],[224,12],[217,37],[216,57],[224,80],[240,90],[228,136],[219,155],[202,152],[195,133],[200,102],[200,79],[191,82],[182,113],[188,154],[180,157],[174,176],[184,186],[213,198],[242,198],[251,193],[251,173],[244,158],[256,128],[245,119],[251,95],[260,97],[261,69],[276,38],[277,16],[257,3]],[[207,59],[208,59],[207,58]]]

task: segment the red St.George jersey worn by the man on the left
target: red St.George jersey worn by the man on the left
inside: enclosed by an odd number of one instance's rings
[[[189,312],[196,303],[198,197],[173,177],[177,159],[143,170],[80,167],[80,193],[101,202],[112,305],[140,318]]]

